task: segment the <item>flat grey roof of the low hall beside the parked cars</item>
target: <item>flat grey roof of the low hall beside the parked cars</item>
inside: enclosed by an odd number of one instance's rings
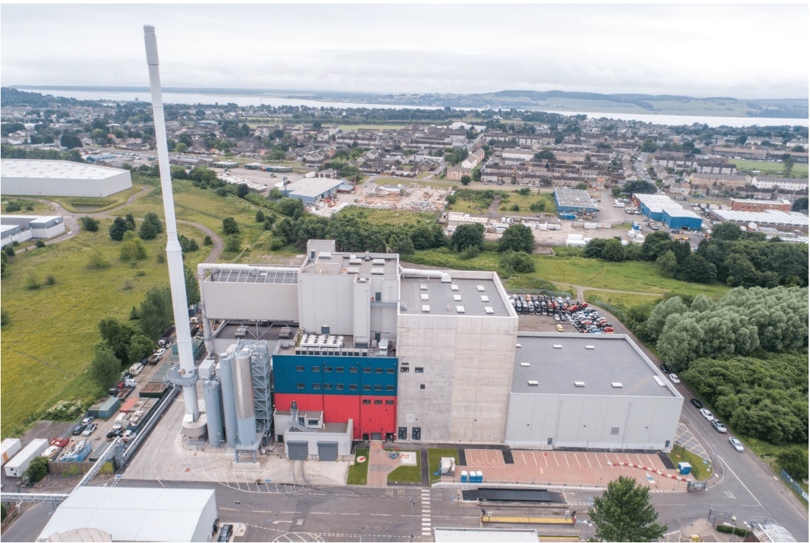
[[[512,392],[680,397],[670,388],[669,377],[653,367],[623,334],[522,332],[518,344]],[[655,377],[667,386],[661,386]],[[577,382],[585,386],[577,386]],[[615,388],[613,383],[622,386]]]

